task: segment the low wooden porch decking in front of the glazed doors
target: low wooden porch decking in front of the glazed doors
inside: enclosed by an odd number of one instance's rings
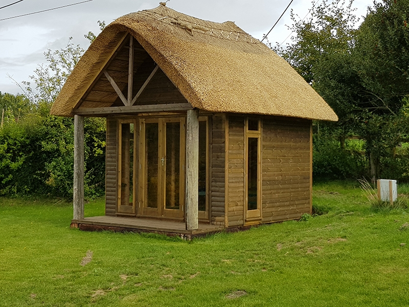
[[[186,239],[220,232],[224,229],[223,226],[199,223],[199,229],[186,230],[185,222],[119,216],[85,217],[82,220],[72,220],[71,227],[85,231],[154,232]]]

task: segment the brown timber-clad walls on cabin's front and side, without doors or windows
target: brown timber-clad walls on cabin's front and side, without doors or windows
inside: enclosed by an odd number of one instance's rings
[[[210,121],[210,211],[214,225],[245,225],[244,119],[216,114]],[[116,119],[107,118],[106,215],[117,211],[117,125]],[[262,223],[296,219],[311,212],[310,125],[310,120],[262,118]]]

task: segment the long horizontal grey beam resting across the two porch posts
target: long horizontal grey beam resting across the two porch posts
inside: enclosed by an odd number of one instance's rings
[[[79,108],[74,110],[78,115],[102,115],[102,114],[121,114],[121,113],[150,113],[150,112],[174,112],[187,111],[193,109],[190,103],[168,103],[168,104],[148,104],[148,105],[130,105],[130,106],[107,106]]]

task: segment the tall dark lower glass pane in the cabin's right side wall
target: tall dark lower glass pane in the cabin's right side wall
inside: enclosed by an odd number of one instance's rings
[[[256,210],[258,138],[248,138],[247,143],[247,210]]]

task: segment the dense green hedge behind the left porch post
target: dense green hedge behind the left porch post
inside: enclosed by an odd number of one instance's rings
[[[0,194],[51,194],[67,199],[73,193],[74,123],[52,116],[45,106],[8,120],[0,128]],[[85,194],[103,193],[105,120],[85,119]]]

